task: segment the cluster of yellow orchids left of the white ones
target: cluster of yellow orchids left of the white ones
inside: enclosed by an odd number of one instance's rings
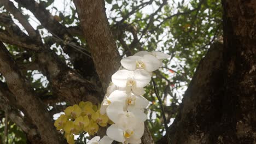
[[[81,101],[79,105],[68,106],[65,115],[56,119],[54,125],[57,130],[65,132],[69,144],[74,144],[74,135],[87,132],[89,135],[97,133],[99,125],[106,127],[112,124],[106,114],[100,113],[100,106],[93,105],[90,101]],[[107,139],[102,139],[105,141]]]

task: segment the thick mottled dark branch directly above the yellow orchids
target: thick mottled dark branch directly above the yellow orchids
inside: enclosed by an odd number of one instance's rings
[[[40,70],[50,81],[53,93],[71,104],[79,103],[82,100],[89,100],[94,104],[100,103],[100,95],[103,94],[101,94],[101,89],[94,82],[85,80],[75,70],[68,68],[47,45],[32,43],[31,38],[21,32],[15,23],[9,19],[4,21],[5,25],[8,25],[8,23],[11,27],[7,30],[12,37],[26,41],[26,44],[36,44],[38,47],[42,47],[34,55],[36,57],[35,63],[40,65]]]

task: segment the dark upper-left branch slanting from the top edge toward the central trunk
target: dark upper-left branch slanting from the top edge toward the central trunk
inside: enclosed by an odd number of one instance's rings
[[[15,1],[21,4],[22,7],[30,10],[40,21],[42,26],[53,34],[53,37],[62,41],[63,51],[71,57],[74,69],[81,71],[80,74],[84,77],[95,77],[97,81],[94,63],[92,58],[88,56],[90,53],[86,51],[84,47],[79,46],[77,40],[73,39],[72,34],[69,33],[70,31],[68,31],[65,26],[61,25],[61,23],[56,21],[54,16],[45,9],[43,4],[37,3],[34,0]],[[86,53],[86,55],[84,53]]]

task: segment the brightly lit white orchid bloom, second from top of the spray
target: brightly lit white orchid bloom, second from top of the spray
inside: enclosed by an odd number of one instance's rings
[[[118,87],[125,88],[126,92],[133,92],[138,95],[145,93],[144,88],[150,82],[151,75],[144,69],[119,70],[112,75],[112,82]]]

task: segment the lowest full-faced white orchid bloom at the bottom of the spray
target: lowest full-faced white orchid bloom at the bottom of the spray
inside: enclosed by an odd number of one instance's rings
[[[137,144],[141,143],[141,137],[144,133],[144,123],[137,121],[131,112],[119,116],[119,122],[112,124],[107,129],[107,135],[122,143]]]

